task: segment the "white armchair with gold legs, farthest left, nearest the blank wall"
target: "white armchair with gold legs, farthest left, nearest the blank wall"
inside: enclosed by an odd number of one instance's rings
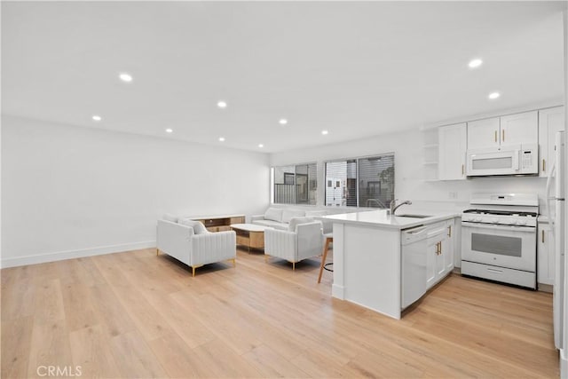
[[[198,221],[196,221],[198,224]],[[190,224],[191,225],[191,224]],[[225,260],[235,265],[237,257],[236,234],[230,232],[209,233],[205,227],[177,224],[166,220],[158,220],[156,233],[156,254],[160,251],[176,258],[178,261],[195,269]]]

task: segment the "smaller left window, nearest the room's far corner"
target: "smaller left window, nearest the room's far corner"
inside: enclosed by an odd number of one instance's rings
[[[316,163],[274,167],[274,199],[277,204],[316,205],[318,167]]]

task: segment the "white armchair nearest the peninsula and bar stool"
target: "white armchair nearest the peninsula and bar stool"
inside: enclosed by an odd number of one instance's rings
[[[296,270],[296,262],[321,255],[323,232],[321,222],[294,217],[288,231],[266,229],[264,231],[264,254],[286,259]]]

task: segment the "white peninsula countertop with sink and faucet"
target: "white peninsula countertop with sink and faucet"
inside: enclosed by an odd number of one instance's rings
[[[399,211],[400,215],[406,214],[404,211]],[[452,212],[432,212],[431,210],[424,212],[407,212],[409,215],[428,215],[430,217],[415,218],[415,217],[400,217],[390,216],[387,214],[387,209],[370,210],[366,212],[353,212],[343,213],[338,215],[329,215],[317,217],[321,219],[331,220],[334,223],[351,224],[351,225],[369,225],[380,228],[388,229],[407,229],[413,226],[432,224],[437,221],[443,221],[448,218],[460,217],[461,213]]]

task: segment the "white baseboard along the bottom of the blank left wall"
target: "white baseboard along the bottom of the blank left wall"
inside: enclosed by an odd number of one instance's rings
[[[43,264],[46,262],[62,261],[64,259],[93,257],[93,256],[100,256],[103,254],[120,253],[122,251],[149,249],[155,247],[156,247],[156,241],[144,241],[144,242],[134,242],[134,243],[123,243],[120,245],[112,245],[112,246],[100,246],[98,248],[92,248],[92,249],[58,251],[55,253],[38,254],[35,256],[27,256],[27,257],[2,258],[2,260],[0,260],[0,268],[16,267],[20,265],[36,265],[36,264]]]

